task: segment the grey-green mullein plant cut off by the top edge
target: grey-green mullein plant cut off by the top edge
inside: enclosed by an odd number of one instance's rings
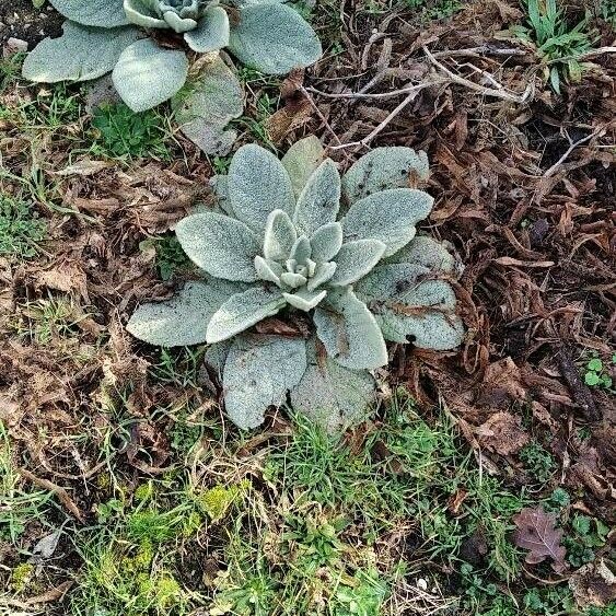
[[[222,123],[243,109],[241,85],[233,70],[218,58],[221,50],[267,74],[307,67],[322,55],[313,28],[284,0],[50,3],[67,18],[63,34],[44,39],[27,55],[23,65],[26,79],[80,82],[111,72],[120,98],[133,112],[143,112],[176,96],[188,78],[189,56],[205,55],[210,60],[200,74],[206,83],[197,86],[197,101],[189,101],[182,112],[182,124],[193,123],[187,133],[198,144],[204,131],[201,141],[212,141],[212,126],[218,128],[216,141]],[[174,106],[183,102],[176,100]],[[216,152],[211,146],[205,149]]]

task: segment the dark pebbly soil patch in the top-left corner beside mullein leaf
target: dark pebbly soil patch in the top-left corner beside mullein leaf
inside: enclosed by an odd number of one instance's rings
[[[32,49],[39,40],[62,33],[65,18],[53,7],[36,9],[32,0],[0,0],[0,47],[9,38],[19,38]]]

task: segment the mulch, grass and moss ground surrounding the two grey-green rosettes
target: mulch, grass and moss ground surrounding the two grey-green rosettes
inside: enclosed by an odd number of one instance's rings
[[[63,19],[2,9],[0,613],[613,615],[613,4],[299,2],[323,60],[237,67],[232,152],[427,153],[405,187],[464,339],[390,344],[344,433],[284,400],[241,430],[207,345],[127,332],[200,279],[174,230],[233,154],[177,105],[27,82],[9,37]]]

